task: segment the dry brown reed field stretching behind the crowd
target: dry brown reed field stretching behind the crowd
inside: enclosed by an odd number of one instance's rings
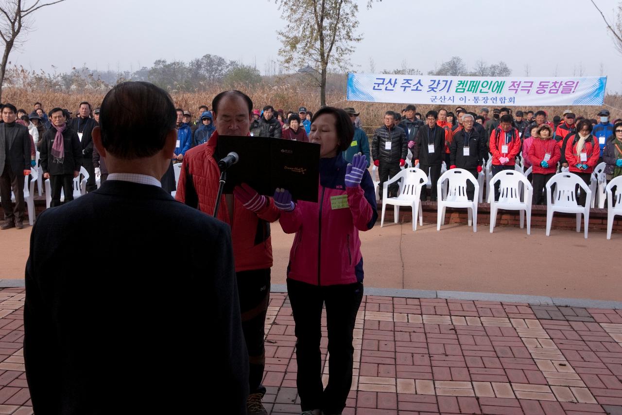
[[[248,88],[239,87],[241,91],[247,93],[253,100],[255,108],[262,108],[264,105],[272,105],[276,109],[284,111],[297,112],[299,107],[307,107],[308,110],[315,112],[320,107],[320,94],[318,88],[306,87],[304,85],[269,85],[263,84],[259,87]],[[211,100],[221,87],[213,87],[205,92],[172,92],[171,96],[177,107],[189,110],[193,117],[198,116],[198,107],[207,104],[211,107]],[[88,101],[97,107],[103,100],[105,91],[89,91],[60,93],[60,92],[37,92],[27,88],[5,87],[2,89],[2,101],[11,102],[17,108],[24,108],[27,112],[32,110],[35,102],[41,102],[46,110],[53,107],[68,108],[73,113],[77,112],[78,105],[81,101]],[[369,103],[345,100],[345,90],[335,91],[335,89],[327,92],[327,104],[338,108],[354,107],[360,112],[361,120],[365,126],[381,125],[383,114],[387,110],[400,112],[406,107],[404,103]],[[611,119],[622,118],[622,95],[607,95],[605,104],[611,112]],[[457,104],[450,105],[417,105],[417,111],[425,114],[429,110],[438,110],[439,108],[447,108],[453,111]],[[492,110],[493,107],[489,105]],[[467,110],[478,112],[481,107],[466,105]],[[516,110],[545,110],[549,113],[549,120],[554,115],[561,115],[567,107],[513,107]],[[211,108],[210,108],[211,109]],[[577,115],[583,115],[588,118],[597,118],[596,113],[600,107],[583,106],[570,107]]]

